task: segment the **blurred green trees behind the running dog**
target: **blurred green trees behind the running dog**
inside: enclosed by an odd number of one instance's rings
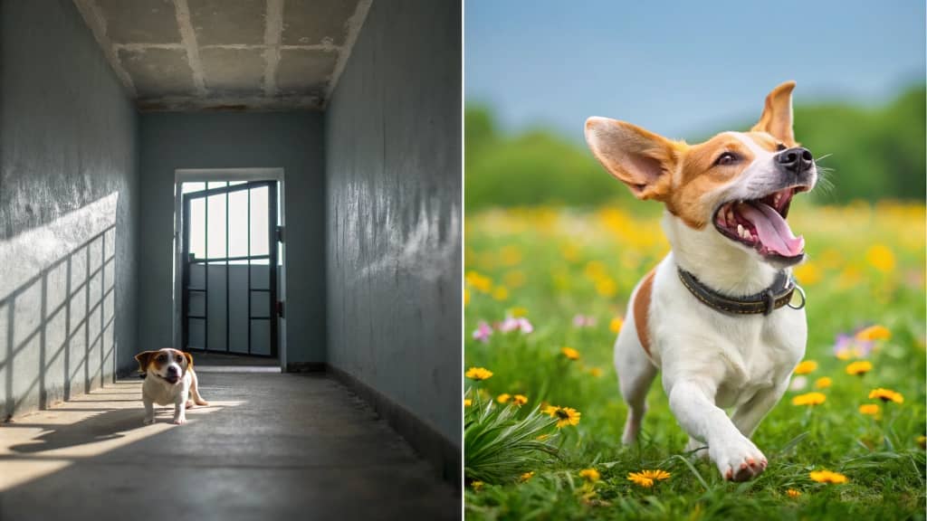
[[[796,105],[795,136],[832,169],[832,189],[811,198],[821,204],[853,200],[921,201],[927,189],[923,85],[889,104],[863,108],[842,103]],[[608,115],[620,119],[620,115]],[[757,116],[758,117],[758,116]],[[605,173],[577,136],[545,129],[502,133],[492,108],[468,103],[464,117],[467,210],[541,204],[594,207],[629,201],[628,190]],[[633,122],[633,121],[631,121]],[[747,130],[755,121],[706,129],[697,143],[725,130]]]

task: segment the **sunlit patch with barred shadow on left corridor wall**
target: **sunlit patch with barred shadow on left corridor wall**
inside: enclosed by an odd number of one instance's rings
[[[117,197],[108,198],[114,210]],[[0,294],[0,421],[115,381],[115,212],[101,213],[108,213],[101,230],[100,219],[69,215],[45,231],[50,236],[0,243],[0,288],[14,285]],[[67,225],[69,218],[80,226]],[[22,251],[30,255],[19,263],[32,265],[17,269],[8,261]]]

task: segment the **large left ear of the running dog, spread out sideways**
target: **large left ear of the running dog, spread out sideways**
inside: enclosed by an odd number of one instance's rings
[[[586,120],[586,143],[595,159],[639,199],[664,200],[679,163],[679,144],[625,121]]]

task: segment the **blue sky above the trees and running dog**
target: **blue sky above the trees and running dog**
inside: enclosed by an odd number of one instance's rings
[[[795,103],[878,105],[924,81],[921,0],[466,0],[468,103],[582,138],[588,116],[695,138]]]

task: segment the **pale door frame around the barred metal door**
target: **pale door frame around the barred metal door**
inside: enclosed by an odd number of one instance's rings
[[[174,230],[171,238],[171,253],[173,254],[173,281],[171,292],[171,306],[173,308],[172,338],[174,346],[183,343],[182,324],[184,297],[184,197],[181,184],[197,182],[218,181],[276,181],[279,186],[280,197],[277,206],[280,212],[280,226],[284,230],[283,255],[281,256],[279,292],[277,299],[284,302],[286,310],[286,184],[284,182],[284,169],[282,168],[223,168],[223,169],[176,169],[174,170]],[[286,314],[277,318],[277,354],[280,358],[280,369],[286,371]]]

